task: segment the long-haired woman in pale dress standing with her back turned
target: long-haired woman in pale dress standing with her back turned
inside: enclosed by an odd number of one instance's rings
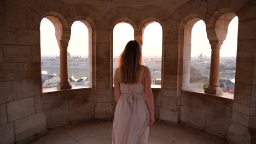
[[[142,65],[141,46],[131,40],[125,46],[114,74],[117,106],[113,144],[147,144],[154,119],[154,98],[149,69]]]

